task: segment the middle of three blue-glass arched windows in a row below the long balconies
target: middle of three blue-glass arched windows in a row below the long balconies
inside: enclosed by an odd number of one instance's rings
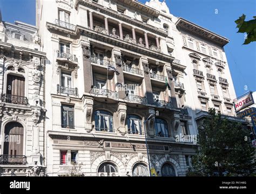
[[[142,119],[134,114],[126,117],[127,128],[130,134],[142,135]]]

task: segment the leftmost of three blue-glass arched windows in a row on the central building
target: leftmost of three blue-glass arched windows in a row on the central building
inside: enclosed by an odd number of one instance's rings
[[[95,111],[96,131],[113,132],[113,115],[104,110]]]

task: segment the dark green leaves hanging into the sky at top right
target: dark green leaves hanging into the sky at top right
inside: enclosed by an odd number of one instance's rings
[[[245,42],[243,45],[250,44],[253,41],[256,41],[256,16],[253,16],[254,19],[245,21],[245,15],[243,14],[239,19],[235,20],[237,24],[238,33],[246,33]]]

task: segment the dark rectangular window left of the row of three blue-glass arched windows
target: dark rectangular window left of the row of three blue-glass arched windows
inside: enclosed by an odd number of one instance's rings
[[[74,106],[62,105],[62,128],[75,128]]]

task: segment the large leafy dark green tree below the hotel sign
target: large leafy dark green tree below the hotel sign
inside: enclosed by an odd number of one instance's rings
[[[248,176],[255,170],[250,130],[209,110],[198,128],[198,150],[187,176]],[[248,137],[248,138],[247,138]]]

